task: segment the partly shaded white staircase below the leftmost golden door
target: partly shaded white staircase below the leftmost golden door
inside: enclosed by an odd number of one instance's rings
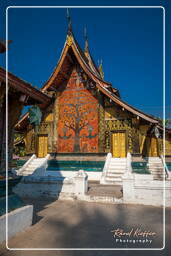
[[[43,175],[46,169],[47,159],[47,156],[44,158],[32,158],[18,170],[17,174],[22,176]]]

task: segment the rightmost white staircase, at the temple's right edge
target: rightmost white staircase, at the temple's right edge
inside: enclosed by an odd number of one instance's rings
[[[160,157],[148,157],[147,166],[154,180],[163,180],[166,178],[165,169]]]

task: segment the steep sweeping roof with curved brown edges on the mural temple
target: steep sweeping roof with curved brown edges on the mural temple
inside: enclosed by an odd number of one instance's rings
[[[59,61],[51,74],[50,78],[42,87],[41,91],[46,92],[48,90],[56,90],[58,86],[62,84],[62,82],[69,79],[70,67],[74,65],[75,60],[79,63],[83,71],[87,74],[87,76],[94,81],[96,84],[96,88],[101,91],[104,95],[109,97],[111,101],[115,104],[119,105],[123,109],[131,112],[132,114],[150,122],[153,124],[158,124],[158,119],[154,118],[151,115],[145,114],[142,111],[132,107],[127,104],[120,98],[119,91],[116,88],[112,87],[112,84],[105,81],[100,74],[93,58],[89,52],[88,45],[83,51],[77,40],[75,39],[72,28],[70,27],[67,33],[66,41],[59,58]],[[26,118],[25,115],[21,120],[21,122]]]

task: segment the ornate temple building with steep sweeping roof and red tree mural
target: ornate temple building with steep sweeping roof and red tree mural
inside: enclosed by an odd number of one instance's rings
[[[152,157],[164,153],[159,120],[121,99],[119,91],[104,80],[102,64],[97,67],[93,61],[87,38],[82,50],[71,26],[58,64],[41,92],[51,101],[41,108],[36,132],[28,113],[15,126],[24,134],[27,154],[111,152],[118,158],[128,152]],[[171,155],[170,129],[165,144],[165,154]]]

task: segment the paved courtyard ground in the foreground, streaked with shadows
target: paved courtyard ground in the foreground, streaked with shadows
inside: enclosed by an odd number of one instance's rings
[[[150,248],[162,247],[162,208],[142,205],[117,205],[80,201],[30,200],[34,204],[33,226],[9,240],[10,248]],[[139,251],[139,255],[169,255],[171,243],[171,208],[166,209],[167,249]],[[112,230],[123,229],[131,236],[116,241]],[[133,237],[134,232],[155,232],[154,236]],[[123,242],[124,238],[129,241]],[[133,243],[130,241],[141,240]],[[148,240],[148,241],[147,241]],[[151,243],[149,242],[150,240]],[[137,255],[137,251],[9,251],[1,246],[0,256],[49,256],[49,255]]]

